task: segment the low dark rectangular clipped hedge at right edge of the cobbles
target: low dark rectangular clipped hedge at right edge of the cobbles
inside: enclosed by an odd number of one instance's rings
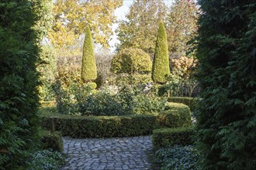
[[[195,130],[189,128],[161,128],[153,131],[152,142],[154,149],[173,145],[191,145]]]

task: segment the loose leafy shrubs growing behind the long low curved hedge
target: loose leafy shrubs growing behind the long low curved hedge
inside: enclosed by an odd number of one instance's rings
[[[144,91],[142,87],[123,87],[117,93],[109,89],[92,93],[78,100],[81,115],[113,116],[127,114],[154,114],[164,110],[165,100]]]

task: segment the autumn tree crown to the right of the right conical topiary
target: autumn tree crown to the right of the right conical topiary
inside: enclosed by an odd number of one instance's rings
[[[191,47],[188,42],[195,38],[198,29],[199,8],[194,0],[175,0],[167,17],[166,32],[171,58],[185,56]]]

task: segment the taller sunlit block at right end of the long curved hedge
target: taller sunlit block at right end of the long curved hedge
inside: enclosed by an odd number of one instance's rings
[[[185,104],[168,103],[166,110],[157,115],[157,126],[159,128],[177,128],[191,126],[191,113]]]

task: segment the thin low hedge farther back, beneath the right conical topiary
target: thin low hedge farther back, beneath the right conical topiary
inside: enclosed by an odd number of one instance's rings
[[[189,106],[191,111],[195,111],[196,107],[199,104],[198,97],[169,97],[168,102],[175,102],[179,104],[185,104]]]

